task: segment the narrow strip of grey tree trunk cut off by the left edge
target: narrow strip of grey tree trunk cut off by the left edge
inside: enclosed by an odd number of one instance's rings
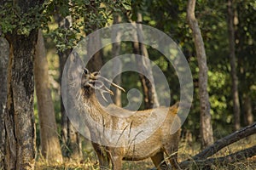
[[[3,37],[0,37],[0,169],[4,168],[4,143],[5,143],[5,128],[4,128],[4,110],[7,102],[7,76],[8,76],[8,61],[9,61],[9,43]]]

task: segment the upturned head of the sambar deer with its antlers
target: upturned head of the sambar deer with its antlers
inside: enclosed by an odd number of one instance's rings
[[[113,95],[113,91],[107,88],[104,82],[110,83],[113,87],[119,88],[120,90],[125,92],[124,88],[121,88],[119,87],[119,85],[109,81],[106,77],[102,77],[99,71],[90,73],[88,69],[84,68],[81,80],[81,88],[84,91],[85,97],[89,98],[91,94],[95,93],[95,90],[99,90],[100,94],[102,94],[102,98],[107,100],[104,97],[104,93]]]

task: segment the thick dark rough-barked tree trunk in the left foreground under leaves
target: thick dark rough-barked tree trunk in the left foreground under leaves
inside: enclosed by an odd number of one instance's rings
[[[28,4],[26,4],[28,5]],[[29,5],[28,5],[29,6]],[[22,7],[20,7],[22,8]],[[38,31],[8,35],[8,102],[5,116],[5,169],[33,169],[36,130],[33,113],[33,59]]]

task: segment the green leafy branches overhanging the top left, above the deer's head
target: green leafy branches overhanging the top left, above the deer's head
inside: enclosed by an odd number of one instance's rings
[[[1,4],[1,3],[0,3]],[[52,0],[42,6],[29,8],[22,13],[15,3],[4,1],[0,6],[0,33],[2,36],[17,30],[19,35],[28,36],[36,28],[46,30],[53,38],[56,48],[63,51],[73,48],[84,34],[107,25],[113,13],[123,13],[131,9],[131,0]],[[57,27],[49,31],[48,23],[56,19],[71,17],[69,27]]]

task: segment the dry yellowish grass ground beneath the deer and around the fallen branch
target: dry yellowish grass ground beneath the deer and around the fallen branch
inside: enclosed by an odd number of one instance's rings
[[[256,145],[256,134],[250,136],[246,139],[241,139],[240,141],[230,144],[222,150],[219,150],[218,153],[211,156],[212,158],[219,156],[227,156],[231,153],[234,153],[238,150],[243,150],[248,147]],[[200,144],[198,143],[189,143],[182,141],[179,150],[178,150],[178,161],[185,161],[192,156],[195,156],[200,151]],[[237,161],[236,163],[231,163],[225,167],[220,166],[212,166],[212,170],[254,170],[256,169],[256,156],[252,158],[248,158],[246,161]],[[86,154],[84,156],[84,160],[82,161],[70,161],[65,159],[64,163],[61,164],[49,164],[46,161],[38,158],[36,162],[36,169],[42,170],[98,170],[99,164],[96,160],[96,155],[93,151],[90,154]],[[129,170],[150,170],[154,169],[154,164],[150,159],[146,159],[143,161],[124,161],[123,169]],[[199,169],[196,167],[191,167],[189,169]]]

